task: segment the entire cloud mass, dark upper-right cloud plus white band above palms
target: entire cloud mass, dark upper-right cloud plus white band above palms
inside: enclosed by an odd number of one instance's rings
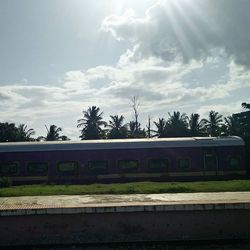
[[[235,91],[250,90],[249,5],[243,0],[168,0],[155,3],[144,17],[132,10],[108,16],[102,30],[132,44],[115,66],[68,71],[60,85],[2,84],[0,116],[41,126],[55,121],[77,138],[82,110],[96,105],[105,119],[117,113],[130,119],[132,96],[140,99],[142,120],[174,110],[201,116],[212,109],[238,112],[245,100],[225,100]],[[239,18],[234,11],[242,12]]]

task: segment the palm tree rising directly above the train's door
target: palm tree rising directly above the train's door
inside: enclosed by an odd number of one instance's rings
[[[221,133],[222,115],[214,110],[209,112],[208,119],[204,119],[207,133],[210,136],[219,136]]]

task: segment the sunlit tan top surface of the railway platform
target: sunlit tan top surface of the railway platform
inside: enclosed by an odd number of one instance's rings
[[[250,203],[250,192],[0,197],[0,209]]]

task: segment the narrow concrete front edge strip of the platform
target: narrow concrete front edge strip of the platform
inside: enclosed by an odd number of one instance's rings
[[[99,213],[134,213],[160,211],[207,211],[207,210],[250,210],[249,202],[241,203],[206,203],[206,204],[99,204],[75,207],[49,206],[0,206],[0,217],[26,216],[42,214],[99,214]]]

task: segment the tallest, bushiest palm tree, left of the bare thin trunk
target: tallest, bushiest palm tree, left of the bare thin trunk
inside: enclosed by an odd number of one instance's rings
[[[81,135],[82,140],[92,140],[104,138],[105,133],[101,126],[105,126],[106,122],[102,120],[103,112],[96,106],[89,107],[87,111],[83,111],[83,118],[79,119],[77,127],[83,127]]]

